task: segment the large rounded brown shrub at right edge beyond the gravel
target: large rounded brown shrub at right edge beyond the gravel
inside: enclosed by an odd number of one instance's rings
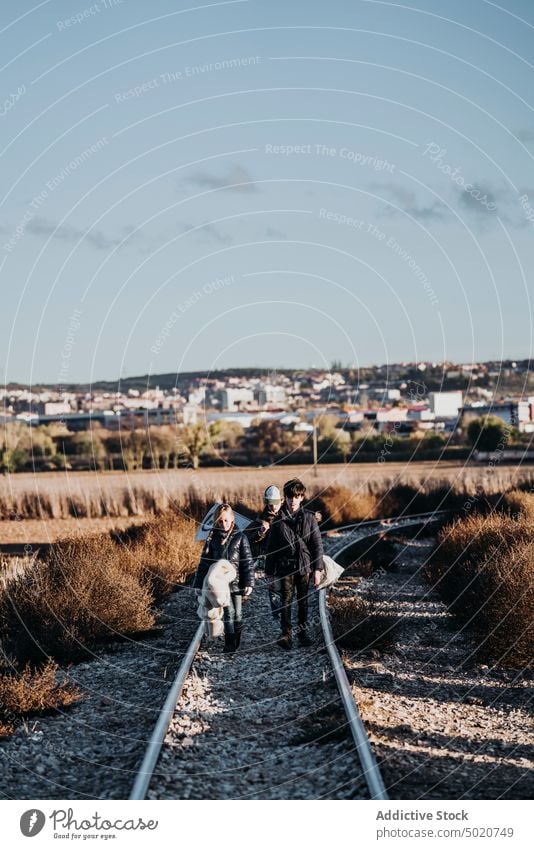
[[[469,516],[440,532],[427,568],[479,656],[503,665],[533,665],[533,530],[524,517]]]

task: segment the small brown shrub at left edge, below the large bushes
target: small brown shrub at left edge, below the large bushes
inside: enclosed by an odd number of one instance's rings
[[[73,684],[57,682],[57,672],[53,661],[40,669],[0,670],[0,737],[14,731],[19,717],[66,708],[81,699]]]

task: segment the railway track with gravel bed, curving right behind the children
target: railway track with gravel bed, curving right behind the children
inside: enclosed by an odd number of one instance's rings
[[[362,540],[446,515],[346,526],[324,535],[325,552],[341,557]],[[261,581],[236,655],[201,648],[197,629],[130,799],[388,798],[332,636],[327,593],[314,596],[311,648],[284,653],[276,646],[278,626]]]

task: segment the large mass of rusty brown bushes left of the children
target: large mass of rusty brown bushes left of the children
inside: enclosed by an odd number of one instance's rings
[[[4,651],[19,664],[74,659],[97,642],[150,631],[157,603],[196,566],[194,531],[169,514],[129,534],[54,544],[0,594]]]

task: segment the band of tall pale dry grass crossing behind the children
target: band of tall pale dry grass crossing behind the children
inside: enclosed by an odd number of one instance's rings
[[[361,499],[354,503],[358,516],[374,510],[375,498],[380,502],[377,515],[397,515],[405,510],[434,509],[444,497],[460,499],[477,487],[490,495],[534,482],[533,472],[521,466],[502,464],[498,469],[485,469],[447,461],[321,465],[317,477],[308,466],[40,472],[0,479],[0,520],[125,518],[164,514],[169,509],[182,509],[199,519],[205,505],[223,499],[258,510],[265,486],[282,486],[291,477],[304,481],[310,497],[321,496],[330,488],[344,487],[357,493],[353,497]]]

